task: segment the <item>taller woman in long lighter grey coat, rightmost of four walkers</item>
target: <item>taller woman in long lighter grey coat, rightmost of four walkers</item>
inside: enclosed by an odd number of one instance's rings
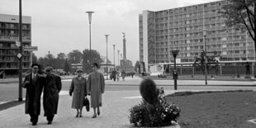
[[[93,108],[92,118],[100,115],[100,107],[102,107],[102,93],[105,90],[105,80],[102,73],[99,73],[97,63],[92,64],[92,73],[88,76],[88,93],[91,95],[91,107]],[[97,107],[97,115],[96,115]]]

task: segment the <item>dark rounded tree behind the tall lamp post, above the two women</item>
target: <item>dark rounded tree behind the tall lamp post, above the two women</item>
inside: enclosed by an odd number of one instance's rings
[[[92,51],[92,63],[102,64],[103,60],[101,59],[101,55],[97,50],[91,50]],[[90,65],[90,50],[85,49],[83,50],[83,71],[85,73],[91,73],[91,65]]]

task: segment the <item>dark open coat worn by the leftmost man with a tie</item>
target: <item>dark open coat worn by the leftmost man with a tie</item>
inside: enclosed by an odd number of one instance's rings
[[[26,88],[25,113],[31,115],[40,115],[40,97],[44,88],[42,84],[43,77],[36,75],[36,79],[32,80],[32,73],[26,75],[23,88]],[[29,83],[25,83],[29,81]]]

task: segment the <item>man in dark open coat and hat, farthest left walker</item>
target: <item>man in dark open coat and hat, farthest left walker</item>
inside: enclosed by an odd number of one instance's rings
[[[43,76],[38,74],[40,65],[32,64],[32,72],[26,75],[23,88],[26,88],[25,113],[31,116],[32,126],[36,126],[40,115],[40,97],[44,88]]]

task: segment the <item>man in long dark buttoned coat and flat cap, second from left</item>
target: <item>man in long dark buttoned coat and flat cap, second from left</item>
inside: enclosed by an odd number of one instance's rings
[[[52,67],[46,67],[46,78],[45,78],[45,88],[43,96],[43,106],[45,110],[46,120],[50,125],[57,114],[58,102],[59,102],[59,92],[61,90],[61,78],[59,75],[53,73]]]

